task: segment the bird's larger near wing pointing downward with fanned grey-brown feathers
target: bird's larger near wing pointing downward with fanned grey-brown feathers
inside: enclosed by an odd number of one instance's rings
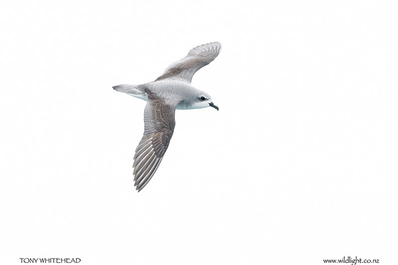
[[[138,192],[151,180],[166,153],[176,125],[174,114],[178,102],[148,95],[144,111],[145,130],[134,155],[134,186]]]

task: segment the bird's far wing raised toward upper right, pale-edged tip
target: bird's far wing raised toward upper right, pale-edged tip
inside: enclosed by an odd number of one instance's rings
[[[171,64],[155,81],[172,79],[191,83],[200,68],[208,65],[221,51],[221,44],[210,42],[193,48],[186,57]]]

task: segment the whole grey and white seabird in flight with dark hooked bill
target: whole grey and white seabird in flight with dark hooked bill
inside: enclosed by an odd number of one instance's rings
[[[202,44],[171,64],[154,82],[113,87],[146,101],[144,135],[135,150],[133,163],[134,186],[138,192],[151,180],[169,146],[176,125],[176,109],[213,107],[218,110],[211,96],[191,86],[191,81],[220,51],[218,42]]]

